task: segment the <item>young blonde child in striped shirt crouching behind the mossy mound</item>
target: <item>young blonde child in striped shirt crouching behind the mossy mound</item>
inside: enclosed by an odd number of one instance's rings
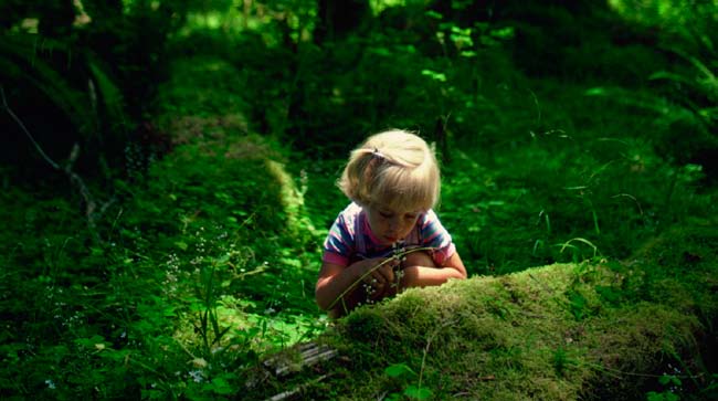
[[[441,179],[434,152],[414,134],[389,130],[351,152],[338,181],[352,201],[324,243],[316,299],[338,317],[408,287],[466,278],[432,210]],[[393,257],[403,255],[403,257]]]

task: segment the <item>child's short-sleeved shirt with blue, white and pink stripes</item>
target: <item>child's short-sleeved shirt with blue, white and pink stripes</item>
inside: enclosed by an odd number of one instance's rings
[[[360,247],[362,241],[357,239],[357,231],[363,236],[363,250]],[[434,213],[429,210],[421,213],[416,219],[416,224],[406,239],[405,247],[431,247],[430,252],[434,263],[437,266],[451,257],[456,247],[452,238],[444,229]],[[344,211],[339,213],[327,239],[324,241],[324,262],[348,266],[361,258],[388,257],[392,253],[391,245],[383,245],[371,232],[369,219],[365,210],[355,202],[351,202]]]

